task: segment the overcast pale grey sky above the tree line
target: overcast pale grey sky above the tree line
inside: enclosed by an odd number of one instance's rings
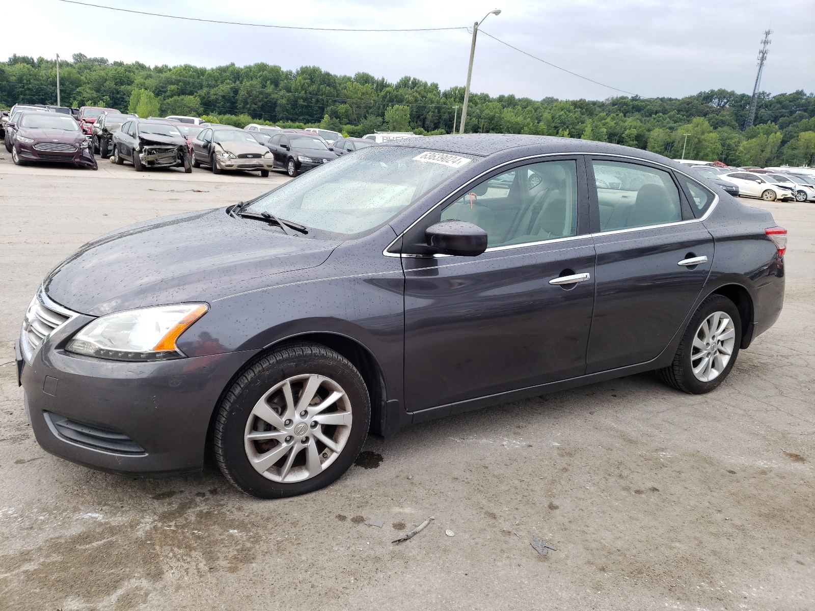
[[[493,8],[484,31],[553,64],[645,97],[723,87],[751,93],[764,29],[772,29],[761,88],[815,91],[813,0],[553,2],[540,0],[88,0],[213,20],[325,28],[428,28],[472,25]],[[337,74],[409,75],[445,89],[465,84],[470,34],[309,32],[205,24],[80,7],[59,0],[17,5],[0,57],[59,53],[145,64],[214,67],[266,62],[315,65]],[[36,18],[30,22],[26,13]],[[7,15],[8,16],[8,15]],[[473,90],[542,99],[621,95],[478,37]]]

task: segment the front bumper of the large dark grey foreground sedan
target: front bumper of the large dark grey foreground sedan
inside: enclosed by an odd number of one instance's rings
[[[69,319],[22,364],[37,442],[53,455],[114,473],[200,470],[218,399],[254,352],[154,363],[65,352],[68,339],[90,320],[84,314]]]

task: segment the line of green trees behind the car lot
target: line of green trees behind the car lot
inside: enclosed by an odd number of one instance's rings
[[[353,77],[315,66],[284,70],[270,64],[240,68],[149,67],[77,53],[60,61],[61,99],[139,116],[192,115],[242,127],[321,126],[351,136],[374,130],[447,134],[460,117],[463,87],[368,73]],[[56,103],[54,60],[12,55],[0,62],[0,105]],[[815,165],[815,95],[762,93],[755,125],[744,130],[750,95],[703,91],[685,98],[615,97],[535,100],[471,94],[466,131],[584,138],[685,159],[729,165]],[[457,108],[456,108],[457,107]],[[687,134],[687,135],[685,135]]]

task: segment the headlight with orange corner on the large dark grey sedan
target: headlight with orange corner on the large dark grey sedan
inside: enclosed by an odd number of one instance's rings
[[[114,361],[183,358],[175,340],[208,309],[205,303],[182,303],[107,314],[78,332],[65,349]]]

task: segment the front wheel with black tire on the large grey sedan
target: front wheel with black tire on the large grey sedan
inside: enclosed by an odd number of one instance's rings
[[[370,419],[368,389],[345,357],[318,344],[284,345],[246,367],[224,394],[215,459],[248,495],[306,494],[354,463]]]

